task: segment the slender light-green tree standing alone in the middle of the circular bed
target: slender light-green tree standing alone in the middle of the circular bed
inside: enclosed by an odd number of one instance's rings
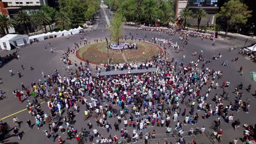
[[[109,31],[111,32],[112,39],[114,42],[118,43],[121,35],[123,35],[124,17],[121,13],[115,13],[111,23]]]

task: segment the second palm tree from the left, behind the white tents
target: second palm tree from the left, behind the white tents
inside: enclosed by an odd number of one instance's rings
[[[18,25],[24,26],[25,32],[28,35],[27,24],[30,23],[30,16],[24,11],[19,11],[18,15],[15,16],[15,21]]]

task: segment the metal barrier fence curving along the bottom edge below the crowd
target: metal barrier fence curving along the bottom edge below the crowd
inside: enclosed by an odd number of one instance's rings
[[[183,137],[184,139],[188,137],[198,137],[203,136],[205,139],[210,140],[213,144],[220,144],[220,141],[216,139],[216,136],[212,134],[212,132],[205,130],[202,132],[201,130],[194,130],[194,131],[184,131],[182,134],[178,132],[174,133],[166,133],[166,134],[155,134],[154,136],[148,135],[148,143],[156,143],[157,141],[161,140],[170,140],[170,139],[179,139],[179,137]],[[128,143],[145,143],[145,135],[138,137],[138,139],[125,139],[119,140],[118,142],[112,142],[114,144],[128,144]],[[97,141],[98,143],[102,143],[100,140]],[[110,144],[110,142],[103,142],[104,144]]]

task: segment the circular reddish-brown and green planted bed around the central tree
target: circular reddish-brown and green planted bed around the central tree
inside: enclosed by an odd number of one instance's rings
[[[131,41],[136,43],[138,49],[112,50],[109,49],[110,63],[142,62],[150,60],[153,56],[159,55],[163,50],[153,44]],[[94,64],[107,63],[107,43],[91,44],[77,50],[75,55],[82,61],[89,61]]]

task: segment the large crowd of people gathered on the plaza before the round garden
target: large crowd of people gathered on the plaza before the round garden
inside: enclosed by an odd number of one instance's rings
[[[186,41],[188,36],[194,35],[181,32],[180,40]],[[152,43],[158,40],[153,38]],[[172,39],[168,40],[168,45],[169,48],[183,50]],[[27,119],[28,127],[33,129],[31,125],[35,123],[37,129],[43,129],[42,135],[53,141],[57,139],[59,143],[64,143],[65,137],[66,141],[76,139],[78,142],[87,139],[98,143],[138,142],[143,139],[148,143],[148,140],[155,139],[156,134],[162,134],[164,129],[166,134],[177,133],[178,142],[185,143],[184,127],[196,125],[209,117],[216,117],[214,135],[220,140],[224,133],[220,129],[221,119],[232,123],[236,130],[240,122],[232,115],[232,111],[249,112],[250,100],[242,100],[242,90],[245,89],[243,83],[238,83],[234,89],[236,100],[230,101],[230,94],[226,92],[230,81],[222,80],[221,70],[207,67],[211,59],[222,61],[220,53],[217,57],[207,58],[203,50],[193,52],[197,60],[185,63],[185,57],[175,61],[167,58],[167,49],[164,47],[162,55],[154,56],[150,61],[104,65],[104,68],[110,67],[115,71],[155,67],[154,72],[98,76],[92,74],[89,62],[81,62],[80,65],[74,62],[75,69],[69,67],[69,55],[77,47],[79,44],[75,43],[61,57],[68,75],[60,74],[57,69],[51,75],[42,71],[42,80],[31,82],[30,86],[24,82],[21,88],[13,92],[21,103],[27,103],[27,112],[34,118],[32,122]],[[13,75],[11,69],[9,71]],[[249,92],[251,87],[249,85],[246,91]],[[207,90],[203,92],[202,89]],[[213,93],[213,89],[221,93]],[[39,99],[48,101],[49,110],[42,110]],[[229,100],[229,104],[225,105],[224,100]],[[86,126],[82,129],[75,125],[75,115],[83,115]],[[13,118],[13,122],[14,134],[21,140],[23,133],[20,129],[24,124],[17,117]],[[190,128],[190,132],[200,131],[200,134],[205,130],[204,126],[195,130]],[[196,142],[193,140],[193,143]]]

